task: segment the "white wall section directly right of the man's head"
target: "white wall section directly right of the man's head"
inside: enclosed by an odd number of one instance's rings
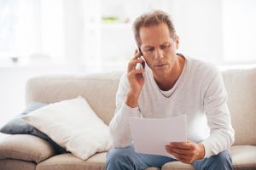
[[[221,0],[174,0],[168,12],[180,37],[180,53],[210,62],[223,58]]]

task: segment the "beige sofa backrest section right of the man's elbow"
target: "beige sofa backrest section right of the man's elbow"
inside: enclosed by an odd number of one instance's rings
[[[222,74],[235,129],[235,144],[256,145],[256,66],[230,69]]]

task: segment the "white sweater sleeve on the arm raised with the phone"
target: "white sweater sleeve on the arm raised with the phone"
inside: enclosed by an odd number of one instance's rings
[[[138,107],[131,108],[125,104],[125,97],[129,90],[127,75],[120,78],[118,92],[116,94],[116,110],[109,123],[109,133],[113,145],[123,148],[131,144],[130,117],[140,117]]]

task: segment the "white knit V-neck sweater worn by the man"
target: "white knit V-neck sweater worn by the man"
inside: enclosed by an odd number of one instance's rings
[[[116,94],[116,111],[110,122],[110,135],[116,147],[131,143],[130,117],[172,117],[187,115],[188,140],[205,146],[205,157],[228,150],[234,142],[234,130],[227,94],[217,67],[186,57],[181,76],[169,91],[161,91],[153,73],[146,66],[145,83],[138,99],[138,106],[125,104],[129,90],[126,73],[121,77]],[[163,94],[170,96],[166,98]],[[163,133],[175,129],[163,129]]]

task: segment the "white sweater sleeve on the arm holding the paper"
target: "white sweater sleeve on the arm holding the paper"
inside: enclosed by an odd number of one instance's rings
[[[217,68],[212,72],[203,100],[210,127],[210,136],[201,142],[205,146],[205,158],[228,150],[235,140],[222,75]]]

